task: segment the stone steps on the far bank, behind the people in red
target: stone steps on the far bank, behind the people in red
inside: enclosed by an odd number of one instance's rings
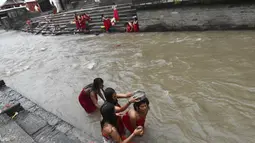
[[[120,21],[116,23],[115,26],[113,26],[114,31],[116,32],[124,32],[125,26],[124,24],[131,20],[134,15],[136,15],[136,9],[132,7],[131,3],[127,4],[119,4],[118,7],[119,17]],[[52,34],[54,27],[59,27],[55,29],[54,33],[59,34],[66,34],[66,33],[73,33],[76,30],[75,23],[74,23],[74,14],[88,14],[92,21],[89,22],[89,31],[90,33],[94,32],[103,32],[104,30],[101,29],[101,26],[103,26],[103,22],[101,21],[101,15],[104,14],[105,17],[112,18],[113,17],[113,10],[112,5],[108,6],[96,6],[96,7],[90,7],[90,8],[84,8],[79,10],[73,10],[58,14],[51,14],[47,16],[40,16],[33,18],[33,22],[40,22],[40,23],[47,23],[47,20],[51,20],[50,23],[48,23],[48,27],[41,31],[42,34]],[[34,29],[34,32],[37,32],[40,30],[41,27],[38,26]],[[24,28],[23,31],[26,31]],[[30,30],[28,30],[30,31]]]

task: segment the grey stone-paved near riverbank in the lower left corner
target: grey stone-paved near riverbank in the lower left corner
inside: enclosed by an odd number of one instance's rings
[[[2,82],[1,82],[2,83]],[[44,110],[10,87],[0,85],[0,105],[20,103],[24,110],[12,119],[0,115],[0,141],[12,143],[99,143],[56,115]]]

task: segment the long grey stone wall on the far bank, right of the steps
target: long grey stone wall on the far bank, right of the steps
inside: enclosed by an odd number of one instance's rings
[[[141,31],[255,29],[255,4],[137,10]]]

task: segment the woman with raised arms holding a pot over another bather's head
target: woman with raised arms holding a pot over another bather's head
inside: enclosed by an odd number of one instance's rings
[[[125,128],[121,120],[119,112],[125,111],[131,103],[134,103],[136,100],[131,97],[131,93],[127,94],[117,94],[114,89],[106,88],[104,91],[104,96],[107,102],[112,103],[115,107],[115,112],[117,114],[117,123],[118,123],[118,132],[121,136],[125,134]],[[130,97],[130,98],[129,98]],[[129,98],[128,102],[124,106],[120,106],[118,103],[118,98]]]

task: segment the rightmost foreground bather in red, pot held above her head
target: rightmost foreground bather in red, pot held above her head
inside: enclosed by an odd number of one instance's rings
[[[134,109],[130,109],[123,117],[122,121],[126,129],[132,133],[138,126],[144,129],[146,115],[149,110],[149,100],[142,97],[139,102],[134,103]],[[144,130],[142,132],[142,135]]]

